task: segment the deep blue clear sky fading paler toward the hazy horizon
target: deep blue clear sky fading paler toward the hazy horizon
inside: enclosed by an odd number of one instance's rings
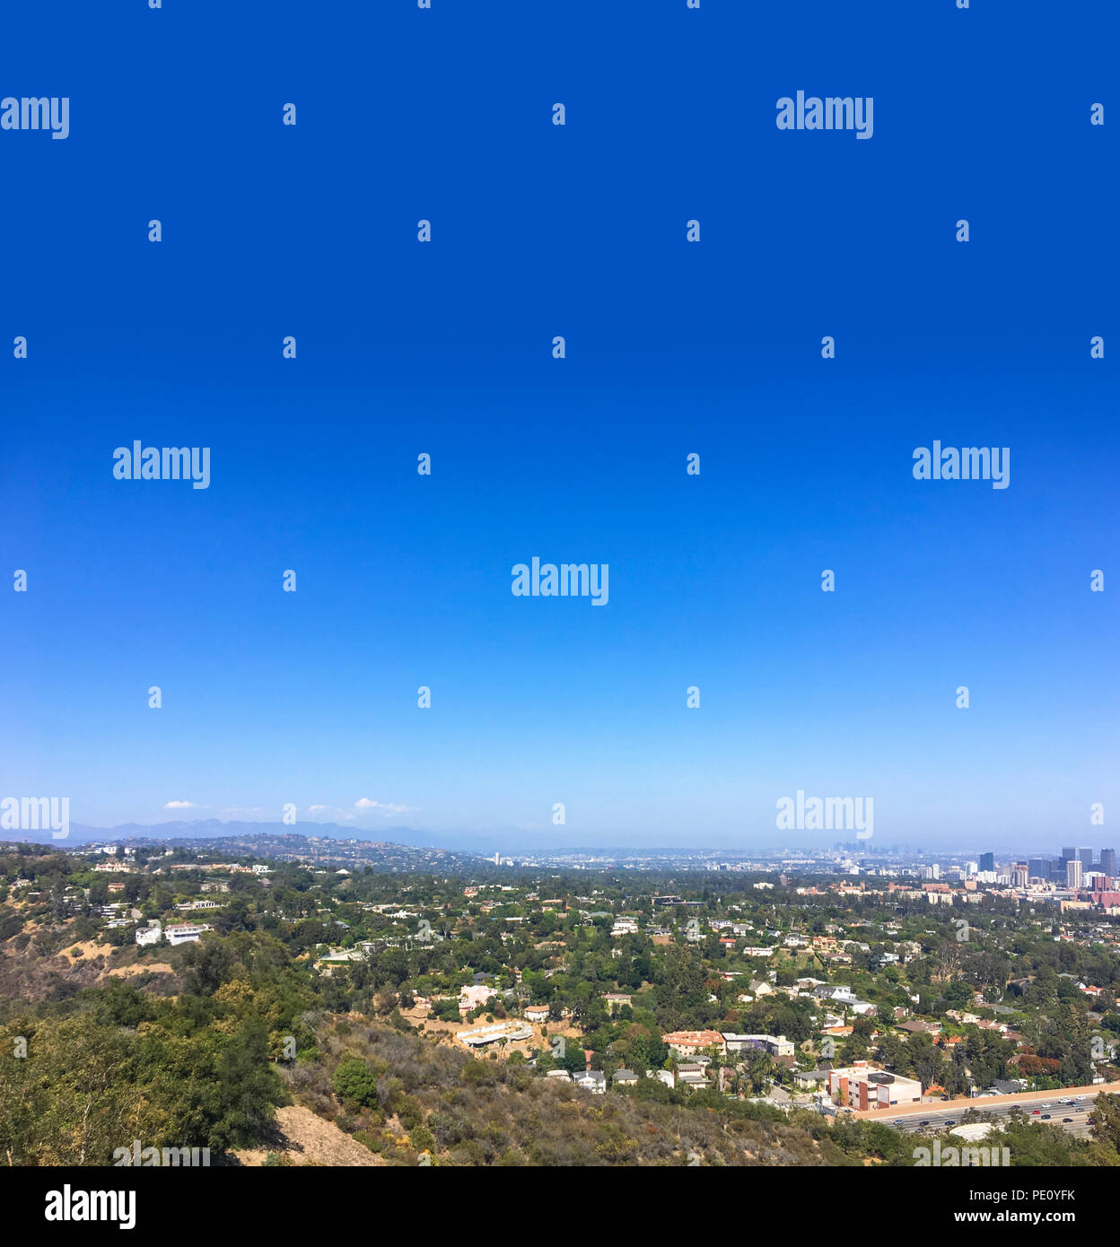
[[[71,132],[0,132],[0,789],[513,848],[772,844],[801,788],[888,843],[1115,843],[1118,34],[1021,0],[6,15],[0,91]],[[874,137],[778,131],[798,89],[873,96]],[[113,480],[133,439],[210,446],[210,489]],[[915,481],[934,439],[1010,446],[1010,488]],[[514,597],[534,555],[609,564],[609,605]]]

